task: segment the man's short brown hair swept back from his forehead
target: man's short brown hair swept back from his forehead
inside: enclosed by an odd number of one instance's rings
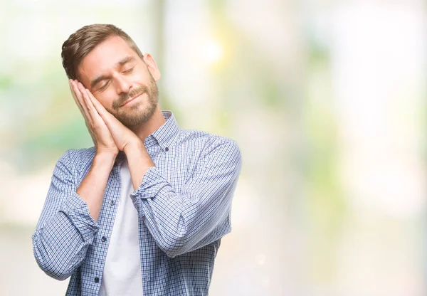
[[[77,79],[77,68],[80,62],[93,51],[97,45],[111,36],[119,36],[127,42],[140,58],[143,57],[135,41],[127,33],[114,25],[95,23],[79,28],[63,43],[60,56],[69,79]]]

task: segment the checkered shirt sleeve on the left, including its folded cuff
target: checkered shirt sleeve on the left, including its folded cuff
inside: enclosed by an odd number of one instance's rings
[[[33,233],[33,253],[40,268],[65,280],[80,266],[99,226],[78,196],[77,159],[68,150],[56,163],[46,201]]]

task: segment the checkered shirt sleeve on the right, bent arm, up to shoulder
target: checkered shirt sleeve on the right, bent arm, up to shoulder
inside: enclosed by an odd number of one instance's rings
[[[159,248],[173,258],[231,231],[231,200],[240,171],[238,145],[219,137],[205,147],[179,193],[153,166],[131,198]]]

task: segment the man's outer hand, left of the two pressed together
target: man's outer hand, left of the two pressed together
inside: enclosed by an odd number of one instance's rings
[[[69,80],[70,90],[78,109],[85,118],[86,127],[92,137],[93,144],[97,154],[106,152],[107,154],[117,155],[119,149],[115,144],[110,130],[105,125],[104,120],[93,106],[90,100],[89,91],[77,80]]]

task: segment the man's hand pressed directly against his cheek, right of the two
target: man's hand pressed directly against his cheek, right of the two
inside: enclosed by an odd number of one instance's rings
[[[137,137],[137,135],[130,129],[125,127],[125,125],[117,120],[117,118],[114,117],[110,112],[105,110],[105,107],[102,106],[102,104],[96,99],[96,97],[93,96],[92,93],[90,93],[88,89],[86,89],[85,92],[88,94],[90,105],[95,108],[97,115],[100,116],[109,129],[117,149],[126,152],[126,150],[130,149],[131,147],[137,149],[144,147],[144,144],[141,142],[139,137]]]

